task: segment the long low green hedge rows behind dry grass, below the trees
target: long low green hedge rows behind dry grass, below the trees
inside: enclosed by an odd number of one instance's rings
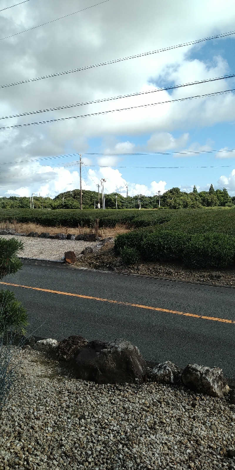
[[[99,219],[99,227],[125,225],[129,228],[161,226],[167,230],[183,230],[185,233],[218,232],[235,236],[235,208],[180,209],[180,210],[83,210],[60,209],[1,209],[0,221],[33,222],[46,227],[94,226]]]

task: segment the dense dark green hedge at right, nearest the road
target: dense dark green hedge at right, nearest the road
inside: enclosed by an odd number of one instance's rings
[[[188,267],[224,268],[235,263],[235,236],[219,233],[186,234],[182,230],[134,230],[118,235],[115,252],[126,264],[177,261]]]

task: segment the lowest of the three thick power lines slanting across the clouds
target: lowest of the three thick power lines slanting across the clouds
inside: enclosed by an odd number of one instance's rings
[[[67,121],[69,119],[87,118],[87,117],[90,117],[90,116],[98,116],[98,115],[101,115],[101,114],[108,114],[108,113],[113,113],[113,112],[116,112],[116,111],[127,111],[127,110],[133,110],[133,109],[137,109],[137,108],[146,108],[148,106],[156,106],[157,104],[174,103],[174,102],[192,100],[193,98],[204,98],[204,97],[208,97],[208,96],[216,96],[218,94],[224,94],[224,93],[233,92],[233,91],[235,91],[235,88],[233,88],[231,90],[218,91],[218,92],[214,92],[214,93],[206,93],[206,94],[199,94],[199,95],[195,95],[195,96],[188,96],[186,98],[177,98],[176,100],[168,100],[168,101],[160,101],[160,102],[157,102],[157,103],[140,104],[138,106],[129,106],[128,108],[120,108],[120,109],[116,109],[116,110],[100,111],[100,112],[97,112],[97,113],[82,114],[82,115],[79,115],[79,116],[69,116],[67,118],[48,119],[47,121],[30,122],[30,123],[27,123],[27,124],[7,125],[7,126],[4,126],[4,127],[0,127],[0,130],[14,129],[16,127],[27,127],[29,125],[49,124],[51,122]]]

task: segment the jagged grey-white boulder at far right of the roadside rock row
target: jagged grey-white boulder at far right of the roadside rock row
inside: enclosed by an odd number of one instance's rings
[[[188,364],[182,371],[182,382],[196,393],[204,393],[211,397],[225,398],[230,391],[227,380],[219,367]]]

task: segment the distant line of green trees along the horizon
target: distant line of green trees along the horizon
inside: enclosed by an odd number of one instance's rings
[[[140,203],[139,203],[140,201]],[[121,196],[118,193],[105,194],[106,209],[157,209],[159,207],[159,196]],[[209,191],[197,192],[196,186],[193,191],[186,193],[180,188],[168,189],[160,195],[160,207],[168,209],[200,209],[203,207],[232,207],[235,204],[235,196],[229,196],[227,189],[214,189],[211,184]],[[80,190],[74,189],[50,197],[34,196],[33,205],[35,209],[80,209]],[[0,197],[0,209],[30,209],[29,197]],[[82,191],[83,209],[98,208],[98,192]],[[102,208],[102,196],[100,194],[100,207]]]

